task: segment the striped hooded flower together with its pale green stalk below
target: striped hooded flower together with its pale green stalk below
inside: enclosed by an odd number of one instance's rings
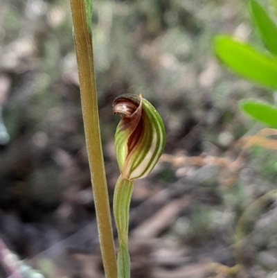
[[[114,100],[114,113],[123,118],[116,128],[116,157],[120,176],[114,189],[114,220],[118,231],[118,278],[130,277],[128,252],[129,204],[134,180],[146,177],[157,164],[166,144],[166,132],[155,108],[134,94]]]

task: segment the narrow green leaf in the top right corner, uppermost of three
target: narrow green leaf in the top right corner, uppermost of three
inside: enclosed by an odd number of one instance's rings
[[[251,0],[249,7],[251,18],[262,41],[272,54],[277,55],[277,27],[274,21],[256,0]]]

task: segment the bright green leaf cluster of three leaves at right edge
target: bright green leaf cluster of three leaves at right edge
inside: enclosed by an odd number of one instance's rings
[[[277,26],[258,1],[249,2],[249,12],[256,33],[265,51],[240,42],[229,35],[217,35],[213,40],[215,55],[226,67],[258,85],[277,89]],[[258,101],[242,101],[240,108],[252,119],[277,128],[277,108]]]

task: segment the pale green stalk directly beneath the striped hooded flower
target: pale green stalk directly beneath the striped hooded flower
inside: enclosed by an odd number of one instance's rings
[[[130,277],[130,259],[128,252],[129,205],[131,202],[134,181],[123,179],[120,175],[114,190],[114,219],[118,231],[118,278]]]

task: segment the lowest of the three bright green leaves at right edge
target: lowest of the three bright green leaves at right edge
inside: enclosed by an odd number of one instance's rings
[[[252,119],[277,128],[277,108],[257,101],[241,101],[241,110]]]

